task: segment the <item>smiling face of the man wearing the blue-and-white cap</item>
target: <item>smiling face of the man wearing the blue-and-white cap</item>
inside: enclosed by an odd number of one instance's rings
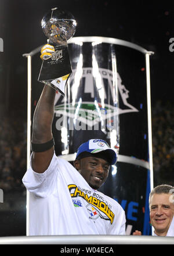
[[[110,170],[110,164],[98,157],[75,160],[74,166],[93,189],[99,189],[103,185]]]

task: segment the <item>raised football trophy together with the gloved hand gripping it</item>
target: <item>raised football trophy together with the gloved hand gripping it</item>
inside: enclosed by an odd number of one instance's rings
[[[38,81],[52,86],[64,96],[72,73],[67,41],[73,37],[77,23],[70,12],[53,8],[46,13],[41,24],[48,44],[41,49],[43,62]]]

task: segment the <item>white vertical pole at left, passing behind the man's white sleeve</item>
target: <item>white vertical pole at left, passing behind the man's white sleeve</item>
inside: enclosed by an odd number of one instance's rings
[[[31,55],[27,56],[27,79],[28,79],[28,90],[27,90],[27,169],[30,167],[30,143],[31,143]],[[29,199],[30,192],[27,190],[27,206],[26,206],[26,235],[29,233]]]

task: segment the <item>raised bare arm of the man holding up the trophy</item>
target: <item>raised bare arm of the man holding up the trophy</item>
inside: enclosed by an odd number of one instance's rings
[[[54,154],[54,146],[50,147],[45,143],[53,139],[52,122],[55,95],[55,89],[45,85],[34,112],[31,139],[33,151],[32,169],[38,173],[44,172],[49,167]],[[44,152],[37,152],[38,148],[41,147],[41,150],[38,151],[42,151],[42,148],[45,150],[46,146],[50,148]]]

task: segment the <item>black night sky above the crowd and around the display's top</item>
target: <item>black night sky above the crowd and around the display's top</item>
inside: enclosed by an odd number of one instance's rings
[[[119,38],[153,51],[151,103],[158,99],[173,101],[174,52],[169,51],[169,39],[174,38],[172,1],[0,0],[1,103],[26,107],[27,59],[23,53],[46,43],[41,20],[49,9],[57,6],[73,13],[77,20],[74,37]],[[8,93],[2,97],[5,88]]]

